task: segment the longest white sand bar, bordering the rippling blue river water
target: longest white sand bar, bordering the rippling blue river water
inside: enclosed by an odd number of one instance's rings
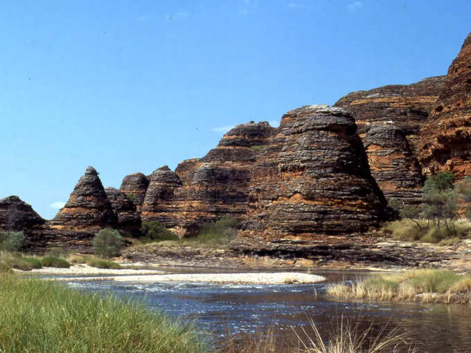
[[[179,273],[172,275],[119,275],[107,278],[74,278],[74,280],[112,280],[119,282],[209,282],[220,284],[290,284],[317,283],[326,278],[299,272],[276,273]],[[60,280],[60,279],[59,279]],[[71,280],[70,278],[68,280]]]

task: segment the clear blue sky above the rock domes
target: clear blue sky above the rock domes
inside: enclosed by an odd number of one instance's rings
[[[469,0],[0,1],[0,197],[52,218],[87,165],[118,188],[231,125],[443,75],[470,31]]]

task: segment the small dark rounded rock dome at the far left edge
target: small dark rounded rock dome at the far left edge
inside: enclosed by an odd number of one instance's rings
[[[0,199],[0,230],[27,230],[39,224],[44,219],[19,197]]]

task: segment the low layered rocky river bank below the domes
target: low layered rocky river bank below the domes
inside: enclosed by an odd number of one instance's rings
[[[159,266],[214,267],[217,269],[356,269],[359,271],[401,271],[436,268],[471,272],[471,240],[438,246],[376,237],[350,244],[331,237],[322,244],[254,244],[252,251],[235,248],[175,246],[156,242],[130,246],[118,259],[123,263]],[[355,240],[356,241],[356,240]],[[289,251],[290,246],[296,251]],[[267,251],[267,248],[270,251]]]

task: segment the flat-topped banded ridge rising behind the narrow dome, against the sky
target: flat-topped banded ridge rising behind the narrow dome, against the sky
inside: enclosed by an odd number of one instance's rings
[[[356,91],[338,100],[334,106],[353,115],[362,139],[371,125],[393,123],[402,129],[416,154],[420,129],[444,84],[445,76],[437,76],[414,84],[392,84]]]

